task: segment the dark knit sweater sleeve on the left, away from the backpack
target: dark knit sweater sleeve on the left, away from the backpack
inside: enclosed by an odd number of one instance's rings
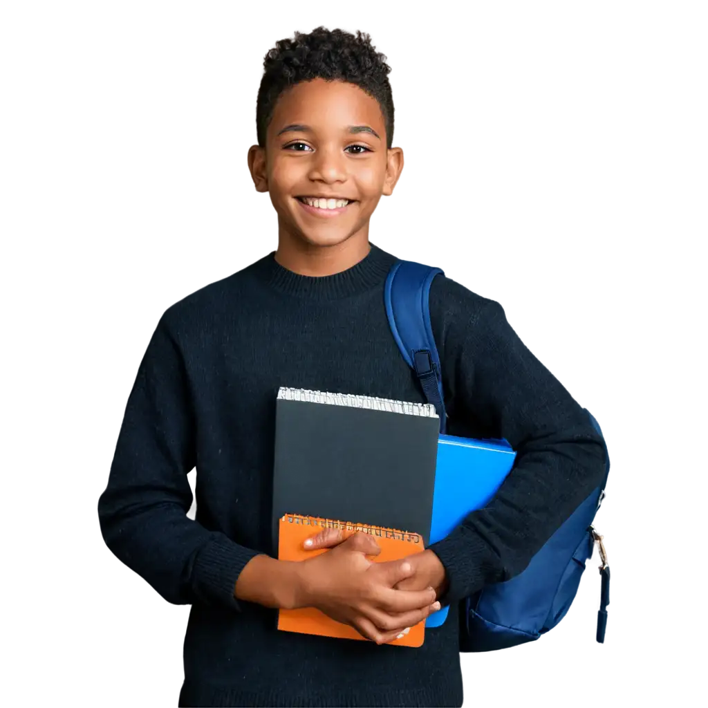
[[[258,553],[190,517],[194,436],[183,360],[158,319],[96,493],[101,544],[169,606],[217,603],[239,610],[236,579]]]

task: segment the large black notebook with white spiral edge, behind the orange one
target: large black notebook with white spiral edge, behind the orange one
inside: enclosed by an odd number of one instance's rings
[[[273,548],[285,514],[418,533],[428,544],[440,419],[430,404],[281,388]]]

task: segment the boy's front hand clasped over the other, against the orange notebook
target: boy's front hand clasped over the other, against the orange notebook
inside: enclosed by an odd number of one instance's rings
[[[341,530],[325,529],[312,540],[305,542],[306,549],[331,550],[300,564],[299,606],[316,607],[377,644],[393,641],[440,609],[432,587],[396,588],[411,577],[411,559],[375,563],[367,558],[381,552],[370,535],[346,537]]]

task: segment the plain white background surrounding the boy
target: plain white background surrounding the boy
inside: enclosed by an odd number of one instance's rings
[[[615,453],[607,646],[579,603],[560,654],[472,657],[469,704],[687,702],[708,684],[708,13],[292,6],[0,8],[0,705],[174,704],[181,612],[99,549],[93,492],[154,314],[270,244],[240,172],[253,72],[314,21],[391,54],[410,157],[379,237],[507,302]]]

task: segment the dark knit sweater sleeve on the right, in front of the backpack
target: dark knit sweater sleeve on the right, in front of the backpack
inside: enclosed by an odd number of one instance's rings
[[[486,437],[506,438],[517,453],[487,506],[431,546],[447,573],[445,600],[453,603],[526,568],[603,480],[605,447],[506,307],[462,283],[448,284],[440,303],[433,327],[448,413],[464,427],[486,430]]]

